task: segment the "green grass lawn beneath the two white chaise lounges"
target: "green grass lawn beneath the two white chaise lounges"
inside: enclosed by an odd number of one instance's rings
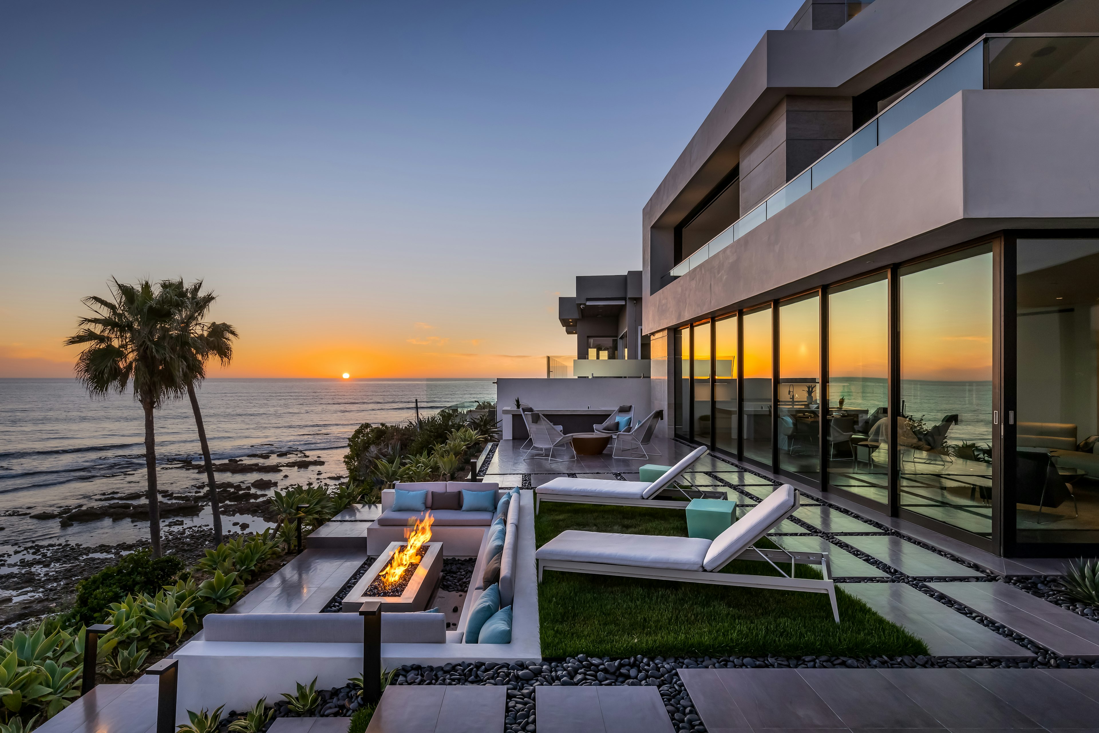
[[[537,546],[565,530],[687,536],[682,511],[544,502]],[[784,568],[785,569],[785,568]],[[737,560],[726,573],[778,575]],[[820,577],[812,566],[798,575]],[[641,580],[547,570],[539,587],[542,654],[595,656],[899,656],[928,654],[917,636],[836,589],[842,622],[828,597],[755,588]]]

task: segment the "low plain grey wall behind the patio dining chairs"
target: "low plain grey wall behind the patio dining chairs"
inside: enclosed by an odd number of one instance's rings
[[[535,410],[606,408],[632,404],[636,415],[651,411],[648,379],[506,379],[496,380],[497,420],[501,410],[515,407],[515,398]]]

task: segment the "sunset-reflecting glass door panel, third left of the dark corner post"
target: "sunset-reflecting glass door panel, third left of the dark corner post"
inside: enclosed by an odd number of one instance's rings
[[[820,295],[778,304],[778,465],[820,480]]]

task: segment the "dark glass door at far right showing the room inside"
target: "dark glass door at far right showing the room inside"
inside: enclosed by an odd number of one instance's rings
[[[1099,542],[1099,240],[1019,240],[1015,269],[1015,541]]]

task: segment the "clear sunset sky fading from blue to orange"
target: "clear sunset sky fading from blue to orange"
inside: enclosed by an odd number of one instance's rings
[[[0,5],[0,377],[202,279],[225,377],[540,376],[578,275],[801,0]]]

